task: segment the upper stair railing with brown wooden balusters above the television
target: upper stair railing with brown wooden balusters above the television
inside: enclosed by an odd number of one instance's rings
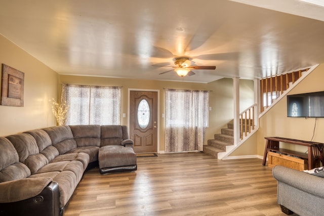
[[[289,83],[295,83],[301,76],[302,72],[308,71],[309,68],[289,72],[286,74],[280,74],[270,77],[265,77],[260,79],[260,90],[261,90],[261,110],[262,113],[264,108],[268,108],[273,103],[273,95],[275,94],[275,98],[278,98],[284,91],[289,88]],[[263,100],[263,95],[266,95],[266,101]],[[270,94],[271,101],[269,104],[268,96]]]

